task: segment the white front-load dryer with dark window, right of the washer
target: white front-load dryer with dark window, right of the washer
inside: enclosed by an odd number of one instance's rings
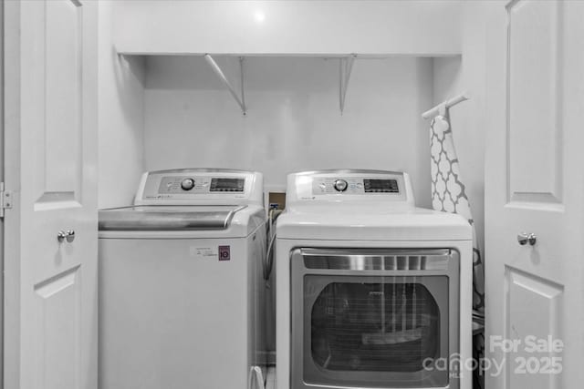
[[[407,174],[287,177],[276,226],[276,388],[470,389],[472,232]]]

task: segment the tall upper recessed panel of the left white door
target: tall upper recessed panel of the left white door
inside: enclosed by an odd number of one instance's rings
[[[72,0],[43,2],[44,42],[37,58],[42,61],[44,142],[37,157],[39,173],[35,210],[76,208],[82,203],[83,170],[83,8]],[[40,168],[43,169],[40,169]]]

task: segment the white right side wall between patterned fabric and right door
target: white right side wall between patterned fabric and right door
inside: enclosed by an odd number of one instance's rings
[[[485,14],[490,1],[466,1],[461,13],[462,61],[434,58],[433,100],[467,91],[470,100],[450,110],[454,146],[473,211],[477,237],[485,248]]]

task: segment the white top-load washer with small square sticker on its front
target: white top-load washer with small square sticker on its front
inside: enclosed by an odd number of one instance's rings
[[[133,206],[99,211],[101,389],[259,377],[265,220],[262,174],[226,169],[151,171]]]

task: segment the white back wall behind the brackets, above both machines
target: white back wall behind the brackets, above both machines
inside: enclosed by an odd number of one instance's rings
[[[297,170],[397,169],[430,206],[431,59],[356,60],[340,116],[338,59],[246,58],[245,98],[247,117],[201,57],[149,58],[145,168],[256,169],[268,188]]]

